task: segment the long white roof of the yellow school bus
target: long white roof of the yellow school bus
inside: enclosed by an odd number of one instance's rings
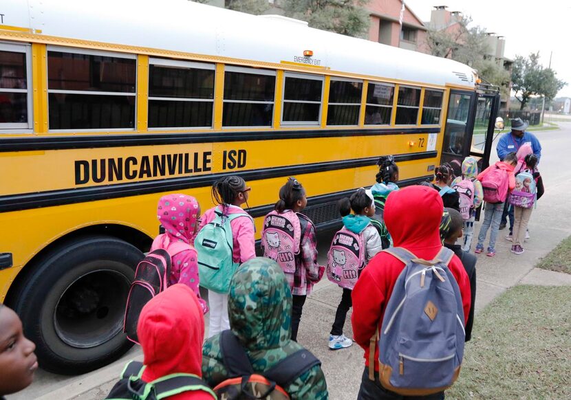
[[[188,0],[8,0],[3,13],[4,25],[73,38],[78,46],[96,41],[258,63],[311,63],[426,85],[475,86],[473,69],[453,60]],[[313,56],[304,57],[305,50]]]

